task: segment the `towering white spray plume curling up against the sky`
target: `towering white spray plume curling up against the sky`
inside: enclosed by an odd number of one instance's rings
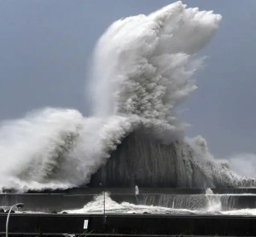
[[[175,108],[196,89],[191,77],[204,58],[195,54],[221,20],[212,11],[173,3],[153,14],[114,22],[96,44],[90,91],[94,115],[144,119],[167,140],[181,136]]]

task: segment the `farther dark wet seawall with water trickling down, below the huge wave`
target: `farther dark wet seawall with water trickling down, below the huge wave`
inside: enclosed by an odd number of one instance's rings
[[[102,189],[84,188],[80,194],[0,194],[0,206],[11,206],[22,202],[24,211],[64,211],[80,209],[90,202],[96,195],[102,194]],[[80,189],[81,190],[81,189]],[[108,189],[107,189],[108,190]],[[139,195],[134,194],[132,188],[110,189],[110,198],[114,201],[129,202],[136,205],[159,205],[166,207],[201,210],[207,207],[209,197],[201,189],[183,190],[158,188],[140,190]],[[77,190],[78,191],[78,190]],[[223,195],[219,198],[222,208],[226,210],[256,208],[256,195]]]

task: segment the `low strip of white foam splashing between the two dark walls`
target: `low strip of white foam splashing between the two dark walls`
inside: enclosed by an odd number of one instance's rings
[[[111,199],[109,193],[95,196],[92,201],[84,205],[81,209],[74,210],[65,210],[64,213],[75,213],[75,214],[102,214],[105,211],[106,214],[111,213],[130,213],[130,214],[181,214],[181,215],[195,215],[195,214],[213,214],[213,215],[256,215],[256,209],[232,209],[223,210],[221,206],[220,197],[212,195],[212,197],[208,197],[209,200],[207,203],[200,203],[200,201],[205,201],[204,197],[196,197],[195,198],[195,207],[191,208],[191,204],[193,204],[193,200],[189,199],[189,205],[184,205],[183,202],[186,199],[182,199],[181,204],[183,207],[175,206],[175,205],[166,205],[166,203],[159,203],[158,205],[154,205],[152,203],[148,204],[133,204],[129,202],[116,202]],[[187,200],[188,201],[188,200]],[[185,206],[185,207],[184,207]]]

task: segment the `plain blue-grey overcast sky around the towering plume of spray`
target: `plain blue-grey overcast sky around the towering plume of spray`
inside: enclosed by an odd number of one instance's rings
[[[86,65],[102,32],[121,17],[148,14],[165,0],[0,0],[0,120],[40,107],[88,114]],[[256,1],[187,0],[224,19],[201,51],[199,89],[181,107],[189,136],[207,138],[219,158],[256,153]]]

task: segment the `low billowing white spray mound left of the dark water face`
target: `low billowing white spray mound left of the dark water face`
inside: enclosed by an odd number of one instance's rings
[[[90,182],[135,121],[86,119],[76,110],[47,108],[3,123],[0,187],[26,191]]]

